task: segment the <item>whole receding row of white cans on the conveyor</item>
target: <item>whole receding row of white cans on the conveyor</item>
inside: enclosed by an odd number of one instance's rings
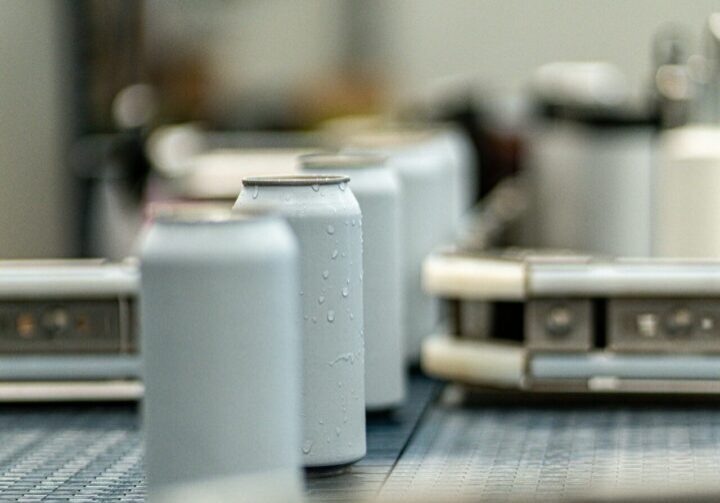
[[[301,466],[359,460],[366,409],[403,403],[439,322],[421,263],[452,237],[472,184],[448,136],[358,135],[299,164],[245,178],[233,211],[160,207],[144,236],[153,499],[255,474],[289,500]]]

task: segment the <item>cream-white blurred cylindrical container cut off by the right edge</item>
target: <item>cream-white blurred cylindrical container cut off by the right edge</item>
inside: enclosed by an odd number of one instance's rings
[[[671,129],[660,145],[653,255],[720,257],[720,128]]]

